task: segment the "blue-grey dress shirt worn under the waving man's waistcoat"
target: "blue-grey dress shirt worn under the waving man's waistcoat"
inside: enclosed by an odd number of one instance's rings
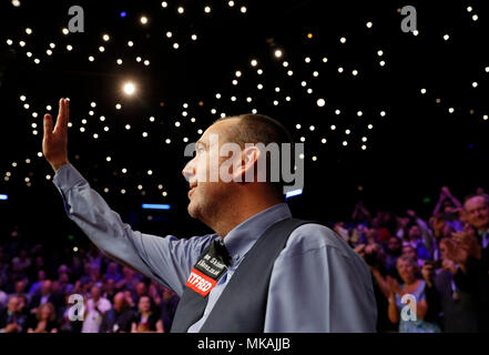
[[[68,216],[108,256],[131,265],[182,295],[193,265],[218,234],[191,239],[133,231],[71,164],[54,175]],[[198,332],[259,235],[291,217],[285,203],[235,226],[224,244],[232,256],[227,272],[210,292],[204,315],[189,332]],[[377,305],[370,271],[345,241],[326,226],[297,227],[275,261],[268,291],[265,332],[375,332]]]

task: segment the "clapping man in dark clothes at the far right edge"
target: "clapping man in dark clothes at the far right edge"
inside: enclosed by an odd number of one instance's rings
[[[489,196],[468,196],[462,216],[465,231],[454,232],[448,255],[459,266],[455,283],[475,298],[478,331],[489,332]]]

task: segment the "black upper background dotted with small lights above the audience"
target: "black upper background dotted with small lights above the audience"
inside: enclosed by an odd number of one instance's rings
[[[61,97],[71,99],[71,162],[125,222],[147,233],[190,236],[208,231],[186,213],[182,139],[196,141],[197,129],[205,130],[221,112],[240,114],[253,108],[283,122],[295,141],[306,138],[304,193],[289,200],[298,217],[325,223],[344,220],[359,200],[371,211],[415,209],[427,216],[442,185],[459,197],[477,186],[489,189],[489,120],[482,119],[489,114],[489,73],[485,71],[489,12],[483,1],[267,0],[235,1],[234,8],[227,1],[167,3],[163,9],[161,1],[21,1],[19,8],[2,2],[0,193],[9,195],[8,201],[0,201],[2,237],[18,225],[26,236],[48,244],[86,242],[65,217],[58,190],[45,179],[53,175],[49,164],[37,155],[45,105],[51,104],[54,113]],[[63,36],[61,29],[68,27],[68,9],[73,4],[84,9],[85,32]],[[203,11],[206,4],[212,7],[211,14]],[[243,4],[246,14],[238,10]],[[406,4],[416,7],[417,37],[400,30],[404,17],[398,9]],[[185,8],[184,16],[177,14],[177,6]],[[121,18],[121,11],[128,16]],[[477,21],[471,19],[475,13]],[[139,22],[142,14],[150,19],[146,26]],[[367,21],[373,22],[371,29]],[[28,27],[33,30],[30,36]],[[172,39],[166,31],[173,32]],[[105,32],[111,36],[106,43],[102,41]],[[190,39],[193,33],[198,37],[195,42]],[[442,38],[446,33],[448,41]],[[344,44],[342,37],[347,39]],[[24,48],[18,44],[20,40],[26,41]],[[133,48],[126,45],[129,40],[134,41]],[[51,42],[57,47],[48,57]],[[172,48],[173,42],[180,43],[179,50]],[[73,51],[68,52],[67,44]],[[103,53],[99,45],[105,47]],[[276,48],[284,51],[281,60],[274,57]],[[378,50],[384,51],[381,57]],[[27,51],[34,55],[28,58]],[[89,62],[89,55],[95,61]],[[151,64],[137,63],[137,55]],[[305,63],[305,57],[312,62]],[[33,58],[41,63],[34,64]],[[123,65],[115,63],[118,58]],[[262,77],[249,65],[253,58],[264,70]],[[284,60],[289,68],[282,67]],[[345,72],[338,73],[338,67]],[[286,74],[288,69],[294,71],[292,77]],[[354,69],[359,72],[356,77]],[[238,85],[232,85],[236,70],[243,77]],[[315,70],[318,78],[312,75]],[[139,85],[134,98],[121,94],[126,79]],[[300,87],[303,80],[313,94]],[[258,82],[264,90],[256,90]],[[275,87],[281,87],[279,93]],[[420,93],[422,88],[426,94]],[[223,99],[216,100],[216,92]],[[22,94],[29,110],[19,100]],[[236,102],[230,100],[232,95]],[[252,103],[245,100],[248,95]],[[284,100],[286,95],[291,102]],[[317,106],[318,98],[326,100],[324,108]],[[279,104],[273,105],[273,100]],[[92,101],[95,109],[90,108]],[[114,108],[118,102],[123,105],[120,111]],[[182,116],[183,103],[189,104],[186,118]],[[212,108],[217,114],[211,114]],[[95,115],[90,116],[90,110]],[[359,110],[360,118],[356,115]],[[384,118],[379,115],[383,110]],[[101,114],[105,122],[99,121]],[[151,115],[155,122],[149,121]],[[89,121],[85,133],[79,130],[82,119]],[[175,121],[182,125],[175,128]],[[32,134],[33,122],[38,135]],[[131,131],[124,130],[128,123]],[[373,130],[367,129],[370,123]],[[314,131],[308,129],[312,124]],[[104,125],[110,132],[102,131]],[[352,134],[345,135],[345,129]],[[149,139],[142,138],[143,131],[150,133]],[[98,140],[92,138],[95,132]],[[365,151],[361,136],[368,138]],[[171,144],[164,143],[167,138]],[[342,145],[345,139],[347,146]],[[108,155],[111,162],[105,161]],[[317,161],[312,161],[313,155]],[[12,162],[18,166],[12,168]],[[129,172],[121,173],[122,168]],[[154,172],[151,176],[145,174],[149,169]],[[8,181],[7,172],[11,173]],[[30,185],[24,181],[28,176]],[[156,187],[160,183],[167,196]],[[110,192],[103,193],[104,187]],[[126,193],[121,194],[121,189]],[[141,203],[169,203],[172,209],[149,212]],[[67,239],[70,234],[74,240]]]

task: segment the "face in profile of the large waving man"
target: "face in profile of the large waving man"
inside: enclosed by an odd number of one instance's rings
[[[228,197],[231,184],[223,182],[218,173],[221,161],[225,159],[220,156],[220,146],[227,142],[227,132],[237,120],[230,119],[211,125],[196,143],[195,156],[182,171],[191,187],[187,210],[194,219],[207,220],[215,215],[216,209]],[[214,134],[218,136],[218,144],[211,142]]]

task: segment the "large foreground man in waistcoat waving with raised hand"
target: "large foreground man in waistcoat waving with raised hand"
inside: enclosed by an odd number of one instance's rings
[[[254,169],[265,156],[247,143],[291,143],[278,122],[243,115],[204,132],[183,174],[190,215],[215,233],[179,240],[132,231],[90,189],[68,160],[68,118],[69,102],[61,100],[54,130],[44,115],[43,139],[67,213],[105,254],[181,296],[172,332],[375,332],[371,276],[361,257],[329,229],[293,220],[273,181],[246,179],[261,173]],[[242,150],[226,166],[218,145],[230,142]],[[232,171],[228,182],[210,181],[216,158],[214,169]]]

